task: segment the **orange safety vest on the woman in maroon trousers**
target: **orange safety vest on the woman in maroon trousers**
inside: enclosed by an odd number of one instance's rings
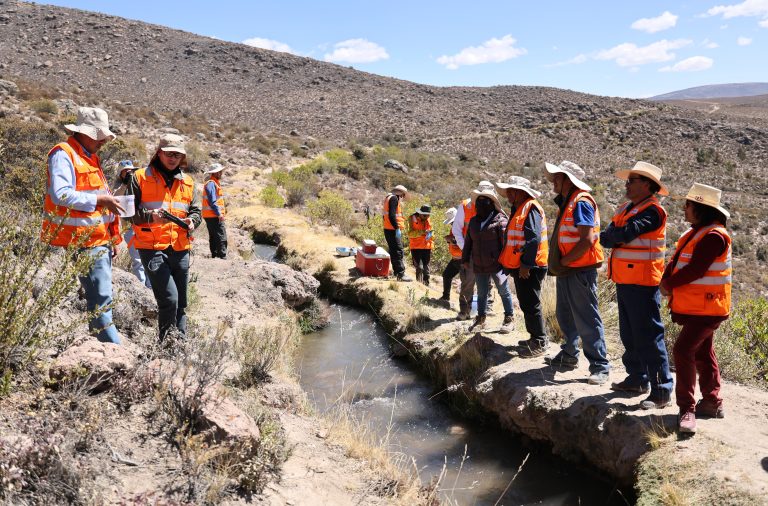
[[[696,244],[710,232],[720,234],[725,239],[725,251],[715,258],[703,277],[672,289],[670,308],[675,313],[727,316],[731,312],[731,236],[722,225],[702,227],[690,240],[688,238],[693,234],[693,229],[685,231],[677,241],[677,244],[684,246],[672,274],[690,263]]]

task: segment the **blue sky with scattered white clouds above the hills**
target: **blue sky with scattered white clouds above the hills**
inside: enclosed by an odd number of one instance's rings
[[[57,0],[437,86],[648,97],[768,82],[768,0]]]

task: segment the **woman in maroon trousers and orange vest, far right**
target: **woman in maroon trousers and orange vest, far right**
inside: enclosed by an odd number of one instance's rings
[[[713,337],[731,311],[730,217],[720,205],[722,192],[693,183],[685,197],[685,220],[691,224],[675,246],[661,279],[661,293],[669,297],[672,321],[682,325],[672,350],[680,408],[681,433],[696,432],[696,417],[723,418],[720,368]],[[702,400],[695,402],[696,374]]]

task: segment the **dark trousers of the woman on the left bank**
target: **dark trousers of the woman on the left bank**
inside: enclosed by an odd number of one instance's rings
[[[140,249],[141,263],[152,282],[157,301],[157,320],[162,341],[176,327],[187,331],[187,283],[189,281],[189,251]]]

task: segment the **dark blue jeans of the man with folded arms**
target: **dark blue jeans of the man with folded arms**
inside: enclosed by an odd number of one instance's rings
[[[616,285],[619,305],[619,335],[624,343],[621,360],[627,381],[633,385],[651,383],[655,395],[672,395],[674,380],[661,323],[661,294],[658,286]]]

